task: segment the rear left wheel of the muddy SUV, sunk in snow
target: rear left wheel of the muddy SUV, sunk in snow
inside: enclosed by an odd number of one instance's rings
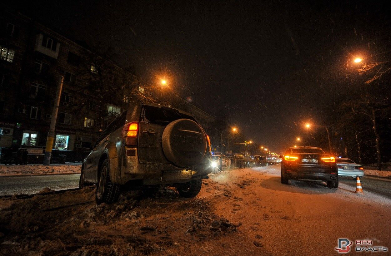
[[[109,162],[105,159],[100,166],[95,201],[97,204],[117,202],[120,195],[120,185],[112,183],[109,175]]]

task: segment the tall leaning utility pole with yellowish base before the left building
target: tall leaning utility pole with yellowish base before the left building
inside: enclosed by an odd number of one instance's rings
[[[50,120],[48,138],[46,140],[46,149],[45,149],[45,156],[43,157],[43,165],[50,165],[50,158],[52,156],[52,148],[53,148],[53,141],[54,141],[54,131],[56,131],[57,113],[58,113],[58,108],[60,106],[60,98],[61,98],[61,91],[63,90],[63,84],[64,84],[64,77],[60,76],[58,79],[56,98],[54,99],[52,120]]]

